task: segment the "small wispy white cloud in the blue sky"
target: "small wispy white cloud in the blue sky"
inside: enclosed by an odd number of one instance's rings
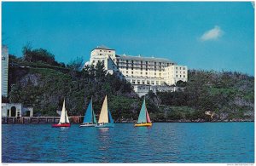
[[[223,33],[224,31],[222,31],[219,26],[214,26],[213,29],[206,31],[201,36],[201,41],[217,40],[219,37],[223,35]]]

